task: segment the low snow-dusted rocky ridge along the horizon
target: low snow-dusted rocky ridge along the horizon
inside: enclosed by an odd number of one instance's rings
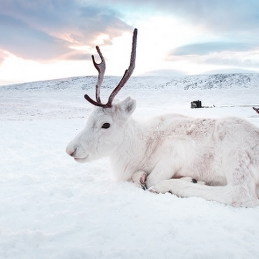
[[[93,89],[96,84],[96,76],[70,77],[63,79],[22,83],[2,86],[0,89]],[[120,77],[106,76],[102,87],[113,88],[119,82]],[[181,77],[132,77],[125,88],[165,88],[165,89],[224,89],[224,88],[254,88],[259,87],[259,74],[237,73],[216,75],[192,75]]]

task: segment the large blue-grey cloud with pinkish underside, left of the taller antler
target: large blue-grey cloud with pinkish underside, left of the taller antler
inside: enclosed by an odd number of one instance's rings
[[[72,57],[71,45],[93,45],[98,35],[113,37],[132,30],[119,13],[106,6],[82,1],[1,0],[0,48],[24,59]],[[72,52],[71,55],[65,55]],[[84,52],[74,59],[86,58]]]

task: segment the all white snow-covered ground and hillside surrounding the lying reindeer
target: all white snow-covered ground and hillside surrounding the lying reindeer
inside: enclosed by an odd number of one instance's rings
[[[105,100],[117,77],[106,77]],[[113,179],[108,159],[65,153],[96,77],[0,87],[0,258],[258,258],[259,207],[155,195]],[[135,117],[235,115],[259,126],[259,75],[132,77]],[[191,109],[192,100],[213,108]]]

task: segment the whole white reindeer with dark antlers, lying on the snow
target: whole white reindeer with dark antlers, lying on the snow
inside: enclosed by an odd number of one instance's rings
[[[113,102],[133,72],[136,37],[135,29],[129,68],[106,104],[100,100],[105,61],[96,47],[101,58],[97,64],[92,56],[99,72],[96,101],[85,98],[97,107],[85,129],[68,144],[68,155],[77,162],[108,156],[117,180],[134,181],[156,193],[203,197],[233,206],[258,205],[257,127],[235,117],[197,119],[176,114],[137,121],[131,117],[135,100]]]

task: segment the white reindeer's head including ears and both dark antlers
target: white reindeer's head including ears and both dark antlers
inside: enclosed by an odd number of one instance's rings
[[[113,103],[113,99],[132,75],[136,60],[136,43],[137,29],[134,29],[129,67],[110,94],[106,104],[102,103],[100,99],[100,87],[105,72],[105,60],[100,48],[96,46],[101,59],[101,63],[97,64],[94,56],[92,56],[94,66],[98,71],[96,101],[87,94],[84,97],[97,107],[89,115],[85,128],[66,147],[66,153],[72,156],[77,162],[87,162],[108,156],[123,141],[127,121],[136,108],[136,101],[127,97],[122,102]]]

